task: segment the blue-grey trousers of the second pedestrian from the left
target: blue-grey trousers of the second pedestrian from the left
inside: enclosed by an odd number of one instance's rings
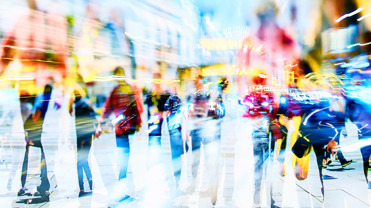
[[[85,171],[85,175],[88,180],[92,178],[92,173],[90,171],[90,167],[88,163],[88,156],[89,156],[91,144],[92,144],[91,135],[89,136],[89,134],[85,134],[85,135],[77,134],[77,175],[79,178],[80,190],[84,189],[83,171]]]

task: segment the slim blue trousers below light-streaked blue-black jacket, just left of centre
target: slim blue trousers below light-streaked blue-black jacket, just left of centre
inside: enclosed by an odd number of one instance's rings
[[[181,155],[184,153],[182,133],[180,128],[171,129],[169,130],[169,133],[170,133],[171,158],[174,167],[174,177],[175,181],[179,181],[182,169]]]

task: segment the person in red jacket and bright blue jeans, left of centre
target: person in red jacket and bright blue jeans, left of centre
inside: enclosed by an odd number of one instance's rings
[[[124,70],[120,67],[115,69],[116,76],[124,77]],[[119,180],[126,178],[129,164],[129,135],[138,132],[142,120],[140,117],[140,108],[138,99],[133,89],[124,80],[119,81],[119,85],[114,88],[111,95],[105,100],[102,108],[101,117],[98,120],[98,127],[95,131],[96,137],[102,133],[101,123],[114,113],[115,119],[111,122],[115,126],[116,144],[118,149],[118,161],[120,166]],[[129,196],[125,195],[125,198]]]

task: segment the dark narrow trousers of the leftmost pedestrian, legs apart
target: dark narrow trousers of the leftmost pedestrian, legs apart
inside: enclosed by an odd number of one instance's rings
[[[23,166],[22,166],[22,175],[21,175],[21,183],[22,183],[22,187],[24,187],[24,185],[26,184],[26,178],[27,178],[28,154],[29,154],[30,146],[39,147],[40,148],[40,151],[41,151],[41,161],[40,161],[40,169],[41,169],[40,178],[41,178],[41,184],[37,188],[37,191],[39,191],[40,193],[45,192],[45,191],[49,191],[49,189],[50,189],[49,180],[47,178],[47,169],[46,169],[45,154],[44,154],[43,146],[41,144],[41,133],[42,133],[42,130],[41,129],[40,130],[39,129],[32,130],[32,131],[29,131],[28,132],[28,136],[29,137],[26,137],[26,142],[27,142],[27,144],[26,144],[26,152],[24,153]],[[36,137],[39,137],[39,138],[33,139],[33,138],[36,138]],[[32,138],[33,140],[31,140],[29,138]]]

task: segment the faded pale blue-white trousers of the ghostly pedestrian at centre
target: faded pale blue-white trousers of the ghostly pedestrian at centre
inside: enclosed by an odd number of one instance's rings
[[[192,183],[191,186],[196,186],[197,170],[200,166],[200,148],[201,143],[204,147],[205,162],[207,168],[207,175],[209,177],[209,188],[212,193],[216,194],[218,191],[219,183],[219,155],[220,155],[220,132],[213,135],[213,132],[209,132],[209,136],[203,133],[205,129],[196,129],[191,131],[190,136],[192,137]]]

